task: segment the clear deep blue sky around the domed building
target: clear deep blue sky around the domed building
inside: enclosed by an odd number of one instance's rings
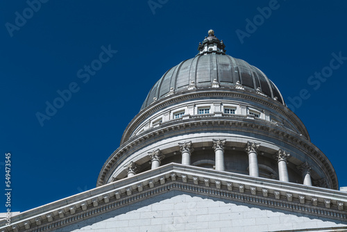
[[[35,10],[26,1],[0,2],[0,179],[5,189],[10,151],[12,210],[94,188],[152,85],[194,57],[210,28],[230,56],[276,83],[287,103],[307,90],[295,113],[347,186],[347,60],[330,67],[332,53],[347,57],[347,1],[153,0],[152,9],[146,0],[42,2],[31,4]],[[271,15],[260,17],[264,7]],[[104,63],[101,47],[112,50]],[[322,70],[326,78],[310,78]],[[42,126],[37,112],[69,87],[71,97]]]

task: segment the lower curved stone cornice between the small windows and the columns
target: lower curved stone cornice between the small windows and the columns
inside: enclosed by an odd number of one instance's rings
[[[274,138],[294,146],[304,154],[312,154],[312,158],[325,167],[323,172],[325,172],[326,176],[330,177],[332,188],[338,188],[335,169],[332,167],[323,152],[314,146],[312,142],[306,140],[303,136],[294,133],[294,131],[289,131],[286,128],[275,126],[275,124],[271,122],[266,122],[262,119],[246,119],[239,115],[235,115],[235,117],[194,117],[191,119],[181,119],[180,122],[174,120],[174,122],[167,122],[161,126],[149,129],[148,131],[128,140],[126,143],[121,144],[121,147],[113,152],[101,169],[97,185],[100,186],[105,184],[105,180],[108,179],[108,175],[111,174],[109,171],[115,169],[115,167],[117,167],[117,165],[129,154],[132,154],[149,144],[153,144],[163,138],[175,135],[212,130],[232,130],[265,135],[269,138]]]

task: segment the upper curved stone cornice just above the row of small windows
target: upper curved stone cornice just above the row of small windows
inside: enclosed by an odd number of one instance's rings
[[[302,133],[307,138],[307,140],[310,140],[310,135],[307,133],[303,122],[301,122],[301,119],[299,119],[293,112],[291,112],[289,108],[282,105],[282,103],[279,103],[276,100],[273,100],[269,97],[264,97],[260,94],[256,94],[255,92],[248,90],[238,90],[235,88],[202,88],[197,90],[185,90],[184,92],[176,92],[176,94],[161,99],[160,101],[153,103],[151,106],[144,108],[144,110],[141,110],[140,113],[137,114],[126,127],[121,138],[121,144],[129,140],[130,135],[137,128],[137,126],[139,126],[139,124],[144,121],[144,119],[146,119],[153,113],[158,112],[158,110],[161,110],[162,108],[165,108],[172,104],[176,104],[180,101],[186,101],[189,99],[201,99],[201,97],[231,97],[235,99],[248,99],[250,101],[260,103],[264,106],[268,106],[269,108],[278,111],[278,113],[280,113],[281,115],[285,115],[285,117],[287,117],[289,121],[296,126],[298,131],[300,131],[300,133]]]

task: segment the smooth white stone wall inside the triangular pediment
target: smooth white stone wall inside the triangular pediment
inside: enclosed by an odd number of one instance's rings
[[[347,226],[313,216],[171,191],[57,229],[65,231],[282,231]]]

